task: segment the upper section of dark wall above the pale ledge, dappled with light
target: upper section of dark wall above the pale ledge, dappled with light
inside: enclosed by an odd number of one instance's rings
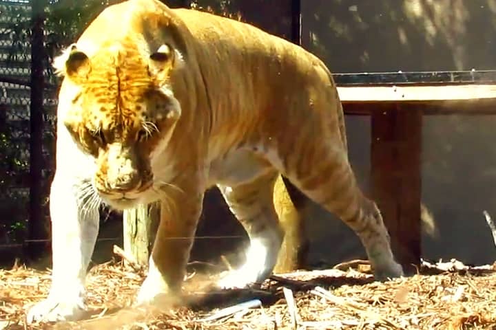
[[[301,3],[304,46],[333,72],[495,69],[496,1]]]

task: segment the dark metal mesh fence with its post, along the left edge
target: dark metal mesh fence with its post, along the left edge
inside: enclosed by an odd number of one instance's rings
[[[43,17],[40,18],[43,24]],[[17,248],[14,253],[19,255],[25,252],[21,248],[30,236],[36,239],[48,233],[45,202],[53,167],[56,91],[51,85],[37,88],[36,74],[32,74],[38,70],[42,75],[38,80],[42,83],[54,80],[47,69],[44,52],[39,54],[38,68],[32,70],[36,64],[32,61],[32,50],[36,47],[33,45],[38,42],[44,47],[44,33],[29,1],[0,1],[0,249],[3,259],[10,257],[6,249]],[[37,96],[41,104],[36,100],[32,102]],[[32,107],[37,109],[32,111]],[[34,113],[38,118],[34,118]],[[38,155],[37,168],[30,166],[35,155]],[[37,192],[36,199],[31,198],[33,191]],[[32,215],[32,210],[37,210],[37,214]],[[34,230],[36,235],[32,234]]]

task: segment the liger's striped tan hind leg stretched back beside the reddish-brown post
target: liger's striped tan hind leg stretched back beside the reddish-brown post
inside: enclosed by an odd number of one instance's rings
[[[302,153],[285,157],[285,172],[293,184],[340,217],[360,237],[376,279],[402,276],[380,211],[358,188],[347,153],[340,145],[324,138],[307,142]]]

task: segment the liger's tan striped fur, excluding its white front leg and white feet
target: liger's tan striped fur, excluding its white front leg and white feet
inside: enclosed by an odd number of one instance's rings
[[[169,57],[154,61],[163,45]],[[338,92],[316,56],[251,25],[158,0],[107,8],[74,52],[87,60],[68,52],[57,61],[60,98],[72,98],[59,119],[95,157],[105,202],[162,200],[152,258],[169,289],[180,287],[211,185],[250,236],[280,236],[272,200],[279,173],[355,230],[378,277],[402,274],[380,212],[355,183]],[[243,173],[226,165],[239,159]],[[124,192],[131,200],[119,199]]]

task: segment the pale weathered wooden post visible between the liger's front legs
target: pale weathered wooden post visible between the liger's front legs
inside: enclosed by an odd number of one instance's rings
[[[124,251],[133,256],[139,265],[148,265],[160,221],[160,206],[152,203],[126,210],[123,221]]]

